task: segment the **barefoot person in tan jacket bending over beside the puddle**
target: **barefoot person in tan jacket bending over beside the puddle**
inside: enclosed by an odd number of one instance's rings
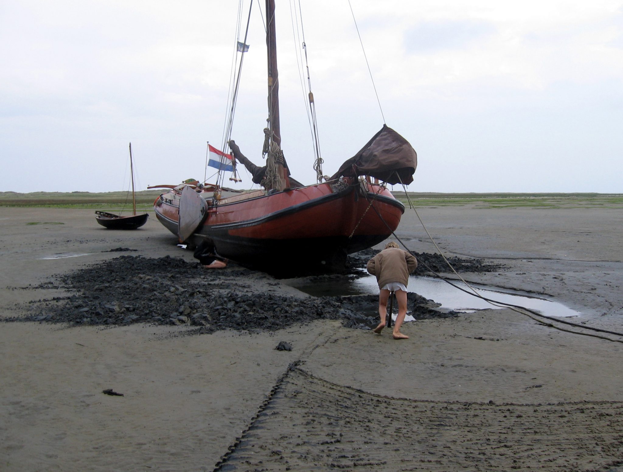
[[[403,251],[397,243],[389,242],[384,250],[368,261],[368,272],[376,276],[379,284],[379,316],[381,323],[374,328],[374,333],[381,334],[385,328],[389,294],[394,291],[398,301],[398,315],[394,323],[394,339],[409,339],[400,332],[400,327],[407,314],[407,285],[409,274],[416,270],[417,259],[409,252]],[[391,315],[390,315],[391,316]]]

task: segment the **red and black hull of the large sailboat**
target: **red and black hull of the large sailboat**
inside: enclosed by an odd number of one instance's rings
[[[179,192],[155,202],[156,217],[175,235],[179,202]],[[341,189],[317,184],[271,195],[260,191],[257,197],[208,204],[207,216],[187,242],[209,238],[219,255],[265,270],[336,270],[347,254],[386,239],[402,213],[404,205],[376,184]]]

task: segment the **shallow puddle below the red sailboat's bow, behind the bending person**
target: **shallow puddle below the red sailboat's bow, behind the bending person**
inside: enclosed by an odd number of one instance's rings
[[[293,286],[300,291],[312,296],[338,296],[338,295],[368,295],[378,294],[379,287],[376,278],[373,276],[363,276],[357,279],[348,277],[340,278],[317,278],[317,279],[290,279],[284,280],[287,285]],[[453,281],[457,286],[464,287],[460,281]],[[525,293],[513,291],[502,291],[502,289],[470,284],[478,290],[480,295],[491,300],[503,303],[511,303],[524,306],[538,311],[547,316],[558,316],[568,318],[579,316],[581,313],[574,311],[557,301],[537,298]],[[455,311],[470,312],[478,309],[496,308],[485,300],[477,296],[469,295],[464,291],[454,288],[452,285],[433,277],[411,276],[409,278],[409,291],[413,291],[441,303],[442,308],[454,309]],[[469,289],[467,289],[470,291]]]

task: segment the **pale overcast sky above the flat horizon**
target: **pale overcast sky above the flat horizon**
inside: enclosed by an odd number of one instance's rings
[[[261,165],[256,3],[232,138]],[[282,148],[312,184],[300,42],[291,3],[276,3]],[[300,4],[330,175],[383,116],[348,1]],[[351,5],[385,121],[418,154],[409,190],[623,192],[622,1]],[[0,191],[127,189],[130,141],[140,189],[202,180],[206,141],[221,147],[237,10],[234,0],[0,2]]]

